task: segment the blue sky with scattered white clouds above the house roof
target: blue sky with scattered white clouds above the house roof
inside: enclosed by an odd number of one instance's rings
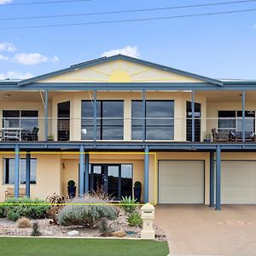
[[[3,29],[256,10],[256,1],[112,15],[6,20],[234,0],[89,0],[14,5],[52,1],[0,0],[0,79],[27,79],[102,55],[118,53],[214,79],[256,79],[256,11],[98,25]]]

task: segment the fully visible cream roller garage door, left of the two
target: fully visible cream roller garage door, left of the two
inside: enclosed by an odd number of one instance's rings
[[[203,204],[204,161],[160,160],[159,203]]]

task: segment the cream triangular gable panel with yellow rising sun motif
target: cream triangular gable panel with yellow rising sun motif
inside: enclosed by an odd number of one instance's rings
[[[74,71],[40,80],[42,83],[61,82],[202,82],[199,79],[148,67],[131,61],[108,61],[93,67],[77,68]]]

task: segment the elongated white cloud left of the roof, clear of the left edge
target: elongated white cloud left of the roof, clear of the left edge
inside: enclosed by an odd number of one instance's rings
[[[36,65],[42,62],[58,62],[59,58],[57,56],[47,57],[39,53],[20,53],[15,55],[14,61],[24,65]]]

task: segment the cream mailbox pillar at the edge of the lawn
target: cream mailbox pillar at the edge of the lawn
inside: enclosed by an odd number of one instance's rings
[[[154,239],[154,206],[147,203],[142,207],[143,230],[141,232],[142,239]]]

